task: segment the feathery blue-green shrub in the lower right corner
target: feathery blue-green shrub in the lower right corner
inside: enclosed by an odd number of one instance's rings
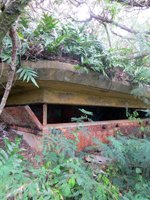
[[[103,145],[104,155],[114,163],[108,169],[110,180],[117,185],[124,200],[150,197],[150,140],[149,138],[110,138]]]

